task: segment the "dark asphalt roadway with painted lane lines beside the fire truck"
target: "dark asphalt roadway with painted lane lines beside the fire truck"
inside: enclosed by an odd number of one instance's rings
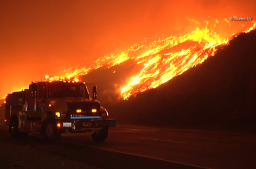
[[[0,125],[0,139],[9,139]],[[101,168],[256,168],[255,133],[121,126],[103,143],[89,135],[62,137],[58,145],[29,135],[26,144]]]

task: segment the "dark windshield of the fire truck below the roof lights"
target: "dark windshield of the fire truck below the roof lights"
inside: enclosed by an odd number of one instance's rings
[[[51,82],[48,83],[48,97],[49,98],[87,98],[89,93],[84,83],[65,83],[65,82]]]

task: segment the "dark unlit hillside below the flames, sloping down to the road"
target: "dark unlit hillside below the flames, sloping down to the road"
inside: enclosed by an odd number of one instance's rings
[[[156,89],[104,106],[121,123],[255,128],[256,31],[222,48]]]

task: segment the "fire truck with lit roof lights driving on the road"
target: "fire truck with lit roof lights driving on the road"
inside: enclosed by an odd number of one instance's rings
[[[45,81],[31,82],[28,89],[7,95],[5,124],[12,137],[28,133],[41,135],[50,144],[61,136],[91,134],[94,141],[104,141],[108,127],[116,119],[97,100],[97,86],[92,98],[85,82],[45,76]]]

